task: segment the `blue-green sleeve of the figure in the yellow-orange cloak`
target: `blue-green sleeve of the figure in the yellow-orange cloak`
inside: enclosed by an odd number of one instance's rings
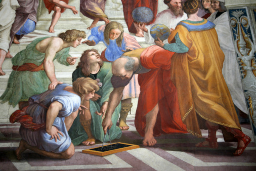
[[[164,44],[163,49],[170,51],[170,52],[176,52],[176,53],[186,53],[188,52],[188,47],[186,47],[183,42],[181,41],[179,37],[179,33],[175,35],[176,42],[173,44]]]

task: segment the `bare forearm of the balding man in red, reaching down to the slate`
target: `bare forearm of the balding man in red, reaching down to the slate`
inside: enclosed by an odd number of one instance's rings
[[[105,118],[103,119],[103,122],[102,122],[104,134],[107,133],[107,128],[110,129],[113,124],[111,121],[111,117],[115,111],[115,108],[118,106],[118,104],[120,103],[120,101],[122,99],[123,89],[124,89],[124,87],[114,88],[114,90],[110,93],[109,100],[108,100],[107,112],[106,112]]]

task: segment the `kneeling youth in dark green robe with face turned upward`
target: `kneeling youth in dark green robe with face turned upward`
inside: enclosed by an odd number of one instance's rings
[[[110,80],[112,77],[111,63],[103,62],[99,52],[90,49],[83,52],[76,68],[72,74],[73,81],[79,77],[91,77],[97,80],[100,86],[90,102],[84,101],[83,105],[88,109],[83,109],[83,114],[77,115],[68,132],[74,146],[79,144],[90,146],[94,145],[96,140],[101,142],[104,140],[101,123],[107,110],[109,95],[113,90]],[[115,125],[109,130],[110,140],[119,139],[122,134],[120,128],[116,126],[120,109],[121,104],[118,104],[112,117]],[[105,141],[109,141],[108,136]]]

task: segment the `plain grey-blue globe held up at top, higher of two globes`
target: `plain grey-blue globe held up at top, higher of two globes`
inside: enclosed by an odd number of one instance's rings
[[[132,13],[135,22],[149,23],[153,18],[154,14],[150,8],[137,7]]]

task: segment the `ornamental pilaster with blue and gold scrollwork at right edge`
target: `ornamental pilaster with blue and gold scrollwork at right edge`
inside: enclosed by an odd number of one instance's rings
[[[256,142],[256,1],[226,0],[254,142]]]

